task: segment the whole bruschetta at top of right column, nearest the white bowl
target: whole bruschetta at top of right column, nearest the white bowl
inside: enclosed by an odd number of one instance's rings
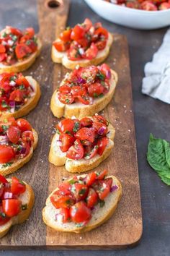
[[[107,58],[113,36],[100,22],[92,24],[86,19],[75,27],[67,27],[53,42],[52,59],[67,69],[98,65]]]

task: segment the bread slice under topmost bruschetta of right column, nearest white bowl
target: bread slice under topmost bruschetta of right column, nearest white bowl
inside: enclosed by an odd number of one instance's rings
[[[88,67],[90,65],[97,66],[99,63],[102,63],[104,59],[109,55],[109,49],[112,46],[113,36],[109,33],[106,47],[99,51],[95,59],[82,59],[79,61],[71,61],[68,59],[66,52],[57,51],[54,46],[52,46],[51,58],[55,63],[61,63],[67,69],[75,69],[76,65],[81,67]]]

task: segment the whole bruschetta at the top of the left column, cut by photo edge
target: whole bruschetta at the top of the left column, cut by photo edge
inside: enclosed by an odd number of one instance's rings
[[[6,26],[0,32],[0,74],[28,69],[40,54],[42,44],[32,27],[21,31]]]

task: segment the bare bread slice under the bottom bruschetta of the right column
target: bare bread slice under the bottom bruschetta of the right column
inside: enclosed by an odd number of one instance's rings
[[[122,196],[122,185],[120,184],[119,180],[115,176],[108,176],[108,178],[109,177],[112,177],[113,179],[112,185],[117,185],[118,188],[114,192],[110,192],[110,194],[104,199],[105,204],[102,208],[100,208],[99,204],[95,206],[91,220],[86,224],[86,226],[77,227],[73,222],[61,223],[59,221],[55,221],[55,215],[58,213],[58,209],[56,209],[50,202],[50,196],[56,189],[49,195],[48,199],[46,200],[46,206],[42,210],[42,218],[45,224],[56,231],[74,233],[90,231],[91,229],[96,229],[98,226],[102,225],[102,223],[106,222],[115,212],[117,203],[120,201]]]

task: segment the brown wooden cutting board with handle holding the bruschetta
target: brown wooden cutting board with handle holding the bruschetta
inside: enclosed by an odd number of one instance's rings
[[[49,0],[48,0],[49,1]],[[128,43],[124,35],[114,35],[109,57],[105,61],[119,76],[115,96],[103,114],[115,126],[115,148],[111,155],[97,168],[107,168],[122,182],[123,195],[112,218],[86,234],[66,234],[53,231],[42,222],[42,208],[50,192],[62,178],[71,177],[64,167],[48,163],[50,140],[58,121],[50,112],[50,97],[68,71],[50,59],[51,43],[66,26],[68,0],[38,0],[38,19],[42,53],[35,64],[24,74],[32,74],[40,82],[40,103],[27,119],[37,129],[39,143],[32,160],[16,175],[32,184],[35,206],[28,221],[14,226],[0,241],[0,249],[117,249],[134,245],[142,234],[140,187],[133,121],[132,88]],[[56,3],[60,4],[55,7]],[[50,7],[48,6],[50,5]],[[83,22],[77,20],[77,22]]]

